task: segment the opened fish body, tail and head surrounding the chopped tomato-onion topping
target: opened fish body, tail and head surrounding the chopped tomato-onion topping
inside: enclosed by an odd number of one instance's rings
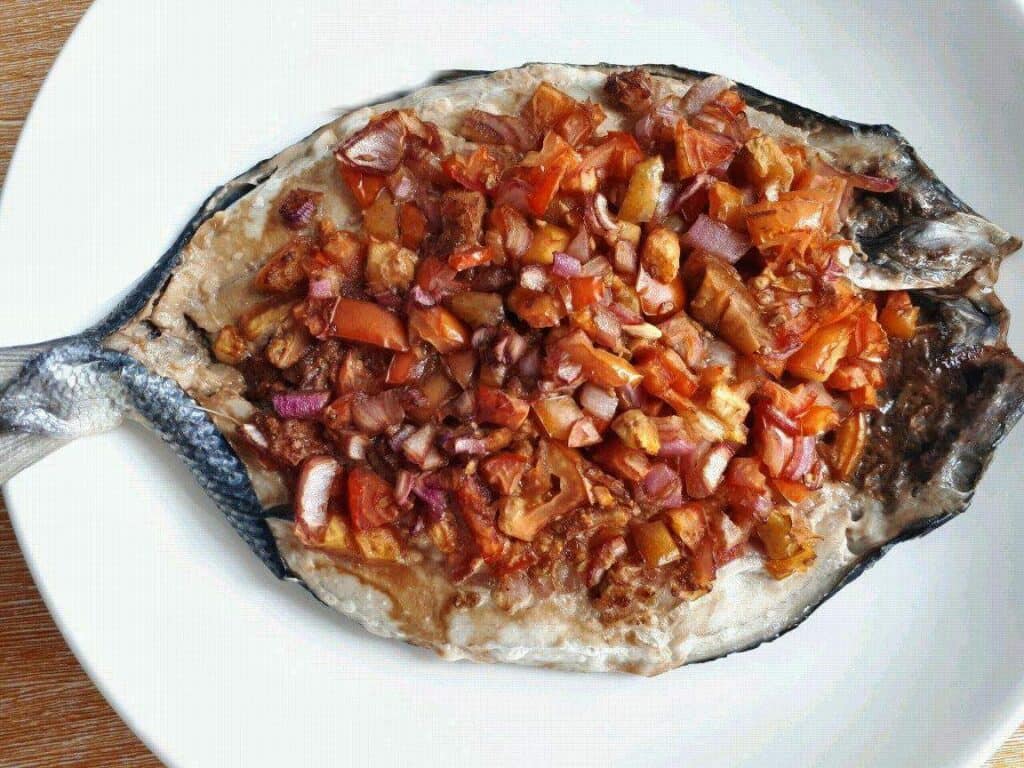
[[[863,289],[909,291],[922,312],[919,334],[886,362],[889,399],[857,473],[813,499],[817,561],[784,581],[739,558],[720,570],[710,594],[642,627],[609,629],[583,617],[570,597],[510,615],[481,591],[453,608],[461,593],[434,573],[341,567],[296,539],[281,478],[240,449],[239,424],[254,408],[241,374],[210,352],[225,318],[257,301],[247,289],[253,272],[286,237],[268,223],[283,189],[297,182],[324,189],[326,213],[339,224],[351,220],[343,196],[332,194],[339,183],[333,152],[371,117],[414,110],[451,138],[470,108],[513,113],[542,82],[600,100],[606,77],[625,69],[443,73],[342,116],[227,182],[101,323],[0,350],[0,481],[72,439],[141,421],[174,449],[276,577],[299,582],[371,632],[450,658],[656,674],[793,629],[893,545],[963,512],[1024,412],[1024,365],[1007,347],[1009,316],[993,291],[1001,259],[1021,243],[956,198],[889,126],[826,117],[736,86],[751,124],[765,134],[807,143],[844,172],[898,179],[895,193],[863,195],[847,216],[844,233],[855,243],[847,274]],[[710,77],[641,69],[680,96]],[[609,127],[621,118],[609,110]]]

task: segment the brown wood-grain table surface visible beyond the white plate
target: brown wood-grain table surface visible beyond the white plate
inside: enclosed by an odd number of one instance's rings
[[[0,184],[36,91],[88,0],[0,0]],[[78,666],[0,500],[0,768],[160,762]],[[1024,768],[1024,726],[986,764]]]

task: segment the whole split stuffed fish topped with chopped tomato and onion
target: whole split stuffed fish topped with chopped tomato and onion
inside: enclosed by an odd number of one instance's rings
[[[889,126],[675,67],[452,72],[0,350],[0,480],[150,425],[253,552],[446,658],[657,674],[963,512],[1020,240]]]

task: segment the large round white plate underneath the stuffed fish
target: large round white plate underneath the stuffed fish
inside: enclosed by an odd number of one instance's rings
[[[900,127],[955,191],[1024,232],[1012,5],[487,5],[100,0],[4,190],[0,343],[84,328],[215,184],[345,104],[449,68],[722,72]],[[1018,310],[1021,278],[1014,260],[1000,284]],[[74,444],[7,492],[65,636],[171,765],[953,766],[1024,716],[1022,449],[1018,429],[969,514],[899,546],[798,631],[651,680],[449,665],[371,638],[275,582],[140,429]]]

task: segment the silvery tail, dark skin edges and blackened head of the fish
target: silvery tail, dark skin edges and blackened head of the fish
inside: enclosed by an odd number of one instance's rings
[[[686,82],[707,76],[671,66],[642,68]],[[426,85],[487,74],[440,73]],[[872,437],[880,438],[854,478],[859,492],[878,500],[879,524],[865,527],[852,543],[858,561],[829,583],[824,597],[802,606],[788,626],[763,642],[793,629],[894,544],[938,527],[968,506],[995,446],[1024,413],[1024,366],[1006,345],[1008,313],[991,290],[999,261],[1021,242],[953,195],[890,126],[823,116],[737,87],[752,108],[808,132],[809,140],[844,170],[899,179],[896,193],[864,195],[853,211],[846,234],[859,249],[850,274],[863,288],[913,292],[928,328],[888,364],[892,380],[907,384],[872,424]],[[137,420],[174,449],[257,557],[275,575],[295,578],[267,523],[288,513],[260,505],[245,464],[209,414],[176,382],[104,347],[103,340],[164,290],[184,246],[204,222],[257,188],[285,156],[308,141],[215,190],[96,327],[52,342],[0,349],[0,482],[72,439]]]

